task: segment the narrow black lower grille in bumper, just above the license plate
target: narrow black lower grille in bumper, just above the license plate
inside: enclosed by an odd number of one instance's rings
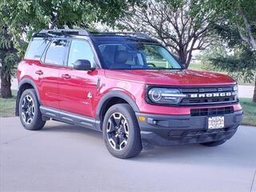
[[[214,116],[214,115],[224,115],[224,114],[233,114],[233,113],[234,113],[233,106],[190,110],[191,116]]]

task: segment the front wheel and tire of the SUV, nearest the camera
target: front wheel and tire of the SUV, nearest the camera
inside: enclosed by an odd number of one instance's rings
[[[106,148],[114,157],[133,158],[142,151],[137,118],[130,105],[111,106],[104,117],[102,131]]]

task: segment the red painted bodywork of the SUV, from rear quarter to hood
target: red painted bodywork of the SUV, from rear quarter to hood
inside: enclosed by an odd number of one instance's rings
[[[38,88],[43,106],[66,110],[96,118],[98,102],[111,90],[119,90],[136,102],[142,113],[190,114],[192,108],[219,106],[156,106],[145,102],[145,85],[168,86],[214,86],[235,84],[224,74],[195,70],[74,70],[68,67],[51,66],[39,61],[23,60],[18,66],[18,81],[29,78]],[[98,78],[101,80],[97,89]],[[88,98],[88,93],[92,98]],[[240,104],[234,110],[241,110]]]

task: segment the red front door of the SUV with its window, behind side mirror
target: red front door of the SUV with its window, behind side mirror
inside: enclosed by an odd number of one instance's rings
[[[78,59],[89,60],[95,65],[94,52],[86,40],[72,40],[67,58],[67,66],[60,70],[59,94],[60,107],[74,114],[92,117],[98,82],[98,70],[74,70]]]

